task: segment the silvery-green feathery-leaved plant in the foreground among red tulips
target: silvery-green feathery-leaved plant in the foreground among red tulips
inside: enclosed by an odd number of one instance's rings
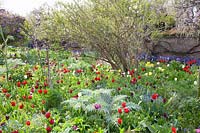
[[[107,130],[109,130],[109,128],[118,126],[116,119],[119,116],[116,110],[120,107],[121,102],[127,98],[126,95],[112,96],[112,91],[111,89],[81,90],[78,99],[70,99],[64,101],[64,103],[68,103],[77,111],[83,109],[86,115],[92,115],[93,117],[87,118],[88,121],[99,123],[96,117],[102,116],[107,125]],[[95,105],[100,107],[96,108]],[[132,102],[127,103],[127,107],[135,111],[141,109],[139,105]]]

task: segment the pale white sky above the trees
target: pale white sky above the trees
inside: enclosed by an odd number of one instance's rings
[[[0,0],[0,8],[4,8],[12,13],[26,16],[32,10],[40,7],[44,3],[52,6],[58,0]],[[73,0],[59,0],[73,2]]]

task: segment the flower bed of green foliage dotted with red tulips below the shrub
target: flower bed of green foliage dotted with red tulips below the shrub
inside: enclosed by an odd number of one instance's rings
[[[8,83],[0,68],[0,133],[199,132],[195,60],[140,61],[123,72],[51,51],[49,85],[44,54],[38,63],[36,50],[9,50]]]

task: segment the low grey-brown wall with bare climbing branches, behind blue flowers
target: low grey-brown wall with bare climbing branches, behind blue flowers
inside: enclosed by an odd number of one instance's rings
[[[200,58],[200,42],[192,37],[164,37],[157,42],[146,42],[146,49],[155,56]]]

